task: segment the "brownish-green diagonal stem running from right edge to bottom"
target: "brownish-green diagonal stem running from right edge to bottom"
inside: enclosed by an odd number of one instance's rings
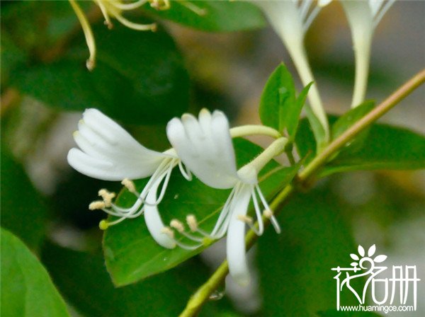
[[[302,182],[307,182],[314,176],[314,174],[319,171],[322,166],[331,158],[336,151],[341,149],[344,144],[350,142],[353,137],[356,137],[358,133],[363,131],[363,129],[367,128],[373,122],[378,120],[382,115],[385,115],[388,110],[397,105],[402,99],[408,96],[414,89],[418,88],[422,83],[425,82],[425,69],[416,74],[412,79],[409,79],[403,86],[401,86],[395,93],[392,93],[390,97],[385,99],[378,107],[374,110],[370,111],[367,115],[365,115],[361,120],[358,120],[354,125],[346,130],[343,134],[341,134],[338,138],[336,138],[331,144],[329,144],[324,151],[322,151],[313,161],[311,161],[303,171],[300,172],[298,178]],[[270,204],[272,210],[278,212],[282,209],[283,204],[288,200],[288,197],[295,192],[295,186],[292,184],[287,185],[283,188],[282,191],[273,199]],[[263,217],[264,224],[268,224],[268,219]],[[246,249],[248,250],[251,246],[254,245],[258,236],[254,233],[254,231],[249,230],[246,234]],[[225,260],[220,267],[214,272],[214,274],[208,279],[205,284],[203,284],[198,291],[193,294],[191,299],[189,299],[186,308],[181,313],[180,317],[192,317],[196,316],[196,314],[200,311],[203,304],[210,298],[212,292],[217,289],[217,287],[222,284],[225,280],[229,272],[229,267],[227,266],[227,261]]]

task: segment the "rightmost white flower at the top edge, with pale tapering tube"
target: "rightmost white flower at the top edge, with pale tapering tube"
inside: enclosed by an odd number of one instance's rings
[[[373,32],[382,16],[395,0],[340,0],[351,28],[354,54],[356,58],[356,79],[354,82],[351,107],[363,103],[368,85],[370,47]]]

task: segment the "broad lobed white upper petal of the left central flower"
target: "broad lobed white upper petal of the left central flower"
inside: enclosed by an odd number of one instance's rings
[[[78,127],[74,139],[81,151],[69,151],[68,162],[80,173],[93,178],[145,178],[168,157],[145,148],[118,123],[96,109],[84,111]]]

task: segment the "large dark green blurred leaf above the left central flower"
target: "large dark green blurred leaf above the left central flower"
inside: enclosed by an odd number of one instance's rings
[[[188,107],[188,74],[171,37],[116,25],[94,28],[98,59],[84,66],[84,43],[67,58],[16,71],[13,85],[61,110],[98,108],[126,123],[167,122]],[[82,33],[81,33],[82,39]]]

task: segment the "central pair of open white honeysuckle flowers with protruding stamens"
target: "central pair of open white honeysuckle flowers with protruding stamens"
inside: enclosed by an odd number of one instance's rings
[[[239,284],[248,284],[249,272],[246,267],[244,234],[248,224],[256,234],[263,233],[263,219],[271,219],[277,232],[278,222],[273,217],[263,196],[257,175],[263,166],[280,154],[288,140],[279,137],[278,132],[268,127],[237,127],[232,131],[224,113],[215,110],[201,110],[198,118],[185,114],[172,119],[166,134],[173,148],[164,152],[152,151],[138,143],[120,125],[96,109],[84,112],[83,119],[74,132],[79,149],[69,151],[68,162],[80,173],[101,180],[121,180],[137,200],[130,208],[123,208],[113,202],[115,194],[99,190],[102,200],[92,202],[90,209],[102,209],[118,217],[113,221],[103,220],[101,229],[107,229],[125,219],[134,219],[142,214],[149,233],[164,248],[180,246],[193,250],[203,246],[205,238],[219,239],[227,233],[227,259],[229,271]],[[240,137],[253,131],[276,137],[262,154],[237,170],[232,135]],[[184,164],[184,165],[183,165]],[[211,232],[198,228],[196,217],[188,215],[184,224],[174,219],[166,226],[159,214],[158,205],[164,198],[171,172],[179,166],[184,178],[191,180],[192,173],[211,188],[232,189],[220,216]],[[145,188],[137,191],[130,179],[148,178]],[[253,202],[258,227],[247,215],[249,203]],[[181,234],[193,241],[188,245],[175,237]]]

